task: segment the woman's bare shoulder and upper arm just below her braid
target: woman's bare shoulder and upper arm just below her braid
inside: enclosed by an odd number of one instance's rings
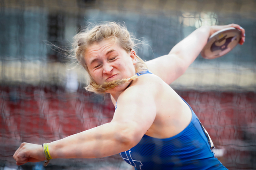
[[[155,120],[157,107],[155,103],[155,75],[141,75],[123,91],[117,99],[112,122],[121,122],[136,127],[135,131],[144,135]],[[159,79],[159,78],[158,78]],[[150,80],[150,81],[149,81]],[[142,137],[142,136],[141,136]]]

